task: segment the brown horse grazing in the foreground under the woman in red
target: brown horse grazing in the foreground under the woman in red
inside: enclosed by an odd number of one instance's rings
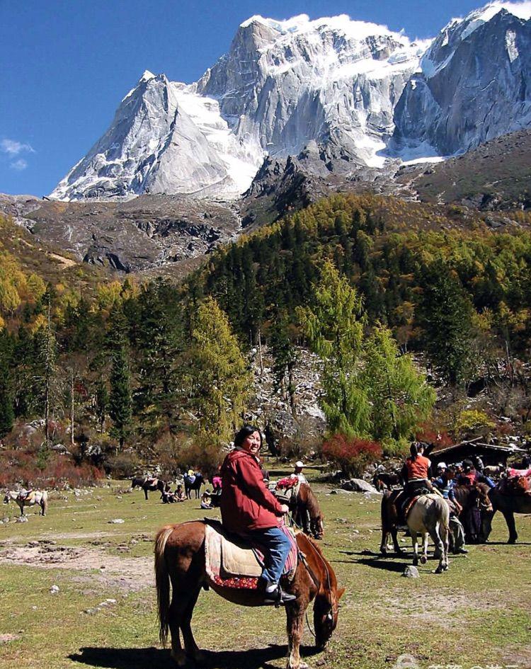
[[[315,642],[324,648],[338,622],[338,602],[344,588],[338,589],[336,575],[317,545],[301,532],[297,547],[304,561],[297,564],[295,578],[285,589],[296,595],[286,605],[288,669],[301,669],[299,647],[304,628],[304,613],[314,603]],[[244,606],[259,606],[263,594],[257,590],[224,588],[207,580],[205,571],[205,523],[192,520],[166,525],[156,535],[156,593],[159,609],[160,638],[166,644],[171,633],[171,655],[179,666],[187,656],[200,661],[202,653],[193,638],[190,622],[202,587],[210,586],[224,599]],[[171,583],[171,588],[170,588]],[[171,590],[171,599],[170,599]],[[183,634],[184,649],[181,647]]]

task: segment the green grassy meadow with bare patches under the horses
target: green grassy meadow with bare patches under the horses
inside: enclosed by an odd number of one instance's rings
[[[314,655],[312,636],[304,631],[303,654],[312,667],[392,669],[404,653],[416,658],[418,669],[531,666],[530,516],[517,518],[519,544],[497,543],[506,541],[507,530],[496,516],[492,544],[452,558],[450,571],[440,576],[430,560],[413,580],[401,577],[411,558],[376,555],[379,500],[327,495],[329,488],[319,484],[315,489],[326,517],[324,552],[347,590],[326,652]],[[0,639],[13,638],[0,642],[0,668],[171,667],[157,639],[151,539],[167,522],[218,514],[198,506],[162,505],[155,494],[145,502],[143,493],[120,493],[114,482],[77,499],[72,492],[67,500],[52,499],[46,518],[32,514],[27,523],[0,525],[0,558],[3,551],[31,550],[28,542],[42,539],[78,551],[74,564],[58,567],[2,561]],[[15,508],[8,513],[15,515]],[[113,518],[125,522],[109,524]],[[59,593],[52,595],[54,584]],[[86,613],[107,598],[116,602]],[[209,591],[200,595],[193,628],[198,644],[211,651],[210,669],[285,665],[281,610],[236,607]]]

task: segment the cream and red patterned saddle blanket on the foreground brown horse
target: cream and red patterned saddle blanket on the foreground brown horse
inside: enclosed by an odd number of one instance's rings
[[[282,576],[289,582],[297,568],[297,542],[292,530],[285,526],[280,529],[292,544]],[[207,577],[215,585],[256,590],[263,568],[263,552],[244,537],[229,534],[220,522],[209,520],[205,524],[205,568]]]

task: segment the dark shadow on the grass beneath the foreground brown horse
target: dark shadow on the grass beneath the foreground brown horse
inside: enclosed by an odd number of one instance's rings
[[[287,647],[270,644],[267,648],[252,648],[247,651],[203,651],[204,669],[274,669],[271,661],[285,658]],[[318,652],[313,646],[301,646],[301,654],[313,655]],[[159,648],[79,648],[78,653],[68,656],[69,660],[91,667],[105,669],[168,669],[173,662],[169,650]],[[190,661],[190,667],[194,663]]]

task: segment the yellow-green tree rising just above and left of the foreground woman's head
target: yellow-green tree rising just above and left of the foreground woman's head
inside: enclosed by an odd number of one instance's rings
[[[203,433],[227,442],[241,421],[252,379],[227,316],[212,297],[199,305],[192,337],[192,408]]]

